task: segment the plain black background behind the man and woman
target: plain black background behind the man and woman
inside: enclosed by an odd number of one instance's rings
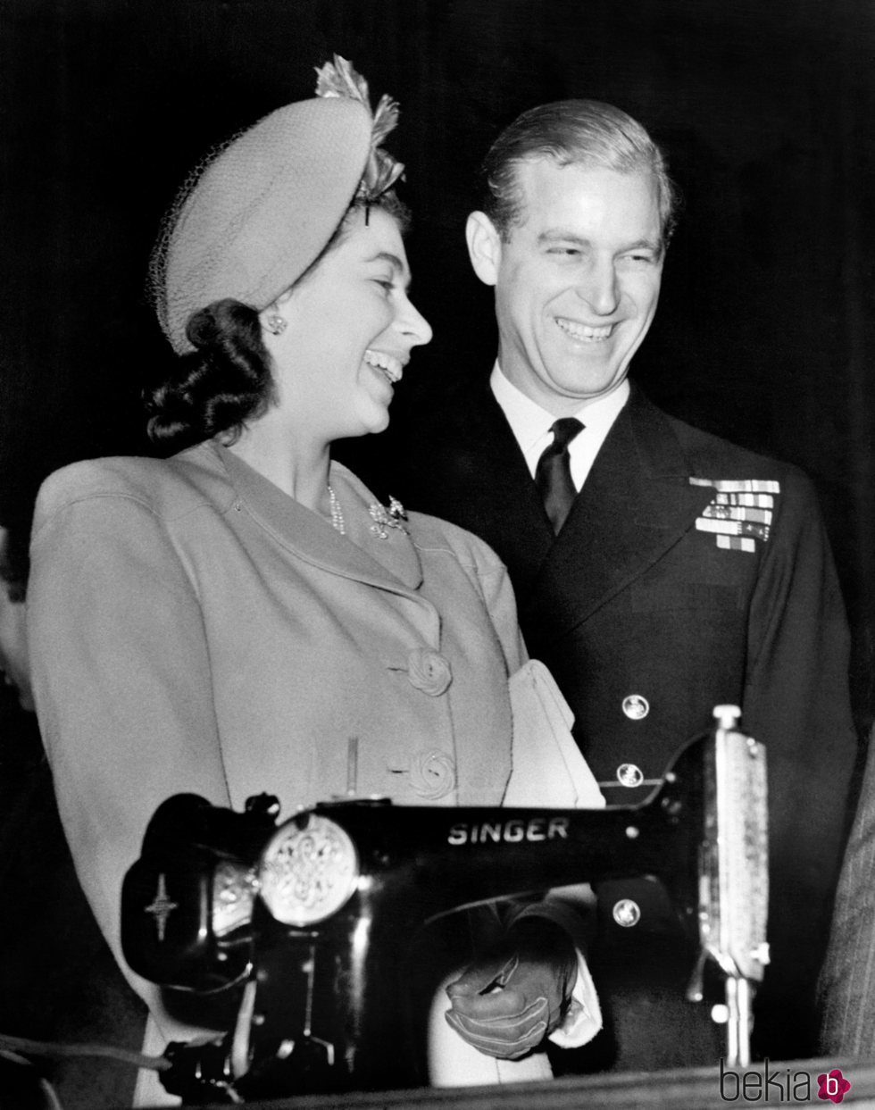
[[[614,102],[666,147],[685,212],[634,376],[676,415],[817,482],[872,712],[875,4],[871,0],[0,0],[0,524],[76,458],[148,452],[168,349],[143,293],[191,165],[353,60],[402,107],[414,299],[403,390],[485,372],[463,224],[531,104]],[[403,397],[402,397],[403,401]],[[20,549],[20,548],[19,548]]]

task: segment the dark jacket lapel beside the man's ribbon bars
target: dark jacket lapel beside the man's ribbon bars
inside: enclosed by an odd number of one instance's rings
[[[691,473],[666,416],[633,390],[541,568],[529,626],[569,632],[673,547],[713,495]]]

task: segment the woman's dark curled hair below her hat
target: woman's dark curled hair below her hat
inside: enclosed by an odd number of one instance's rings
[[[147,391],[149,436],[175,451],[215,435],[233,443],[274,398],[259,314],[240,301],[213,301],[192,314],[187,335],[194,351]]]

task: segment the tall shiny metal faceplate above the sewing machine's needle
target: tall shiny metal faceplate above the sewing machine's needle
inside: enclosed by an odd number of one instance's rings
[[[768,963],[765,747],[717,728],[707,761],[700,935],[727,975],[761,980]]]

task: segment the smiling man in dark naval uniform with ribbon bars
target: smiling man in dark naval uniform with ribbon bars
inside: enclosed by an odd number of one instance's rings
[[[497,360],[412,404],[400,495],[506,563],[529,649],[562,687],[609,805],[642,801],[715,705],[742,707],[770,774],[773,962],[754,1046],[811,1054],[855,754],[814,492],[630,387],[675,209],[644,128],[594,101],[535,108],[499,137],[483,180],[467,244],[495,290]],[[617,881],[600,899],[593,971],[613,1025],[595,1066],[716,1063],[722,1032],[685,1001],[694,953],[665,892]]]

